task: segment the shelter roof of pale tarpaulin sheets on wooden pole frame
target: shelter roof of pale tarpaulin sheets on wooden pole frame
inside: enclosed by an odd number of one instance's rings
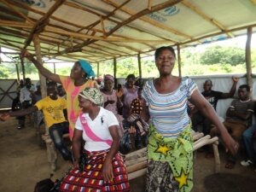
[[[116,58],[122,56],[137,55],[142,76],[140,58],[162,45],[177,48],[180,64],[185,46],[247,34],[252,84],[256,0],[2,0],[0,9],[0,46],[26,48],[39,61],[84,58],[101,67],[101,61],[113,60],[114,76]]]

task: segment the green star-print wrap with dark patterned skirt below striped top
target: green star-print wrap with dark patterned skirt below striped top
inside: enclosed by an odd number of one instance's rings
[[[177,138],[149,127],[147,192],[189,192],[193,187],[193,141],[188,125]]]

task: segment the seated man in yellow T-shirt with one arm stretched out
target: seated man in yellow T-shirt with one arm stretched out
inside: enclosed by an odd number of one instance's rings
[[[65,146],[62,138],[63,134],[68,133],[68,122],[63,112],[67,108],[67,102],[65,99],[57,96],[57,85],[54,82],[48,83],[47,94],[48,96],[36,102],[31,108],[3,113],[0,115],[0,119],[5,120],[9,119],[9,117],[27,115],[43,110],[44,121],[49,128],[49,136],[55,143],[55,148],[61,152],[64,160],[72,160],[72,154]]]

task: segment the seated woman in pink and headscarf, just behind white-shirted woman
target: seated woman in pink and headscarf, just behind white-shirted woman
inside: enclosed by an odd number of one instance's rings
[[[123,103],[120,101],[119,97],[117,96],[116,90],[113,90],[114,78],[110,74],[104,75],[104,87],[102,89],[102,95],[104,98],[103,108],[112,111],[115,117],[119,120],[120,130],[123,131],[123,117],[119,115],[118,109],[122,108]]]

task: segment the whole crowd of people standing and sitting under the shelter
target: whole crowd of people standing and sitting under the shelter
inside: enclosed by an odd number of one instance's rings
[[[99,89],[88,61],[75,62],[70,76],[61,76],[49,72],[26,49],[21,55],[49,79],[48,96],[40,98],[39,90],[32,90],[30,79],[26,79],[25,84],[20,82],[20,101],[16,101],[20,107],[1,114],[0,119],[18,117],[18,127],[23,128],[25,115],[43,112],[55,147],[64,160],[73,163],[59,191],[130,191],[119,153],[119,141],[125,131],[135,136],[135,149],[147,147],[148,192],[189,192],[193,188],[192,131],[199,131],[198,125],[205,134],[222,138],[229,150],[226,168],[235,166],[241,138],[248,154],[248,160],[241,161],[241,165],[256,163],[250,87],[239,87],[239,98],[231,102],[223,123],[215,111],[217,102],[234,96],[238,79],[233,78],[229,93],[212,90],[212,81],[207,80],[201,93],[189,77],[172,74],[176,61],[172,47],[155,50],[158,78],[136,85],[135,75],[129,74],[117,90],[113,89],[115,79],[110,74],[104,75]],[[62,139],[67,132],[72,148]]]

